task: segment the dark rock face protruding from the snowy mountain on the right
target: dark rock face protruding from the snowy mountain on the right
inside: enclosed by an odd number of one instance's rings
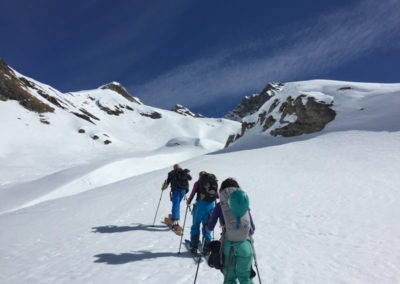
[[[241,133],[231,135],[226,147],[255,126],[260,127],[260,132],[270,131],[271,136],[292,137],[321,131],[335,119],[336,113],[331,108],[333,102],[317,101],[313,96],[302,94],[301,91],[282,101],[280,92],[283,86],[268,84],[259,95],[245,98],[230,113],[236,115],[236,118],[253,114],[253,118],[244,119]],[[265,105],[267,102],[268,105]],[[262,106],[264,107],[260,110]],[[254,118],[257,112],[258,117]]]

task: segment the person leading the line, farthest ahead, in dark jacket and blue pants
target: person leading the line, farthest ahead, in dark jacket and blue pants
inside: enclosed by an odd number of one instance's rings
[[[167,180],[162,186],[162,190],[168,188],[171,184],[170,199],[172,202],[171,210],[171,228],[176,231],[180,228],[179,218],[180,218],[180,204],[183,197],[189,191],[189,181],[192,177],[189,174],[190,170],[182,169],[179,164],[173,166],[173,170],[168,173]]]

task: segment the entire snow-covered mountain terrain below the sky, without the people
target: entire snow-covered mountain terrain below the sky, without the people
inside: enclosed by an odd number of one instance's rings
[[[262,283],[400,283],[399,84],[271,84],[235,114],[252,127],[207,154],[241,123],[146,106],[117,83],[64,94],[7,68],[0,283],[192,283],[197,265],[160,223],[176,162],[246,190]],[[309,104],[334,119],[284,137]],[[200,265],[196,283],[222,282]]]

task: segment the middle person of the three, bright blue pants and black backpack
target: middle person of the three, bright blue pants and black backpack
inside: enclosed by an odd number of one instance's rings
[[[198,249],[200,225],[202,225],[201,231],[204,239],[202,253],[208,254],[211,232],[206,231],[205,226],[214,210],[215,200],[218,198],[218,181],[215,175],[205,171],[199,173],[199,179],[194,183],[192,192],[187,200],[188,206],[190,206],[195,195],[196,203],[193,205],[193,223],[190,230],[191,251],[195,253]]]

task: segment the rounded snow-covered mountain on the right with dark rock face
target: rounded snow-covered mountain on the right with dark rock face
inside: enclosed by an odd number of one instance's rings
[[[399,97],[400,84],[271,83],[259,94],[245,97],[226,116],[242,122],[241,133],[232,135],[228,144],[244,138],[271,145],[339,130],[397,131]],[[236,144],[240,147],[241,142]]]

